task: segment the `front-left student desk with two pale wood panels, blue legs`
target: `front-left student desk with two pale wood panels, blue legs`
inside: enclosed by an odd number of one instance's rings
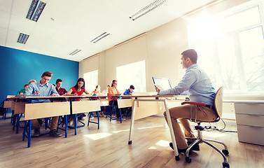
[[[104,96],[99,96],[104,97]],[[53,102],[53,101],[66,101],[66,99],[70,99],[70,102]],[[23,132],[23,141],[25,138],[28,139],[28,147],[31,144],[32,138],[32,120],[37,118],[49,118],[53,116],[67,116],[70,113],[83,113],[90,111],[97,111],[100,109],[99,100],[94,101],[82,101],[82,102],[73,102],[72,100],[76,98],[95,98],[97,96],[60,96],[60,97],[18,97],[16,98],[18,101],[24,101],[27,104],[25,105],[25,127]],[[36,103],[31,104],[34,99],[50,99],[50,103]],[[20,107],[23,108],[23,104]],[[21,109],[20,109],[21,110]],[[75,126],[75,134],[76,134],[76,126]],[[67,137],[67,117],[66,117],[66,127],[65,127],[65,137]]]

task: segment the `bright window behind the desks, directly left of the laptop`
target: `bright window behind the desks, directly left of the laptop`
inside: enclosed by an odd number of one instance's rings
[[[116,67],[118,90],[125,92],[130,85],[134,85],[134,92],[146,92],[145,60]]]

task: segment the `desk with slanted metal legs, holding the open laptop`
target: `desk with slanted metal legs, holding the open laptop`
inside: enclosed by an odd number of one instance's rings
[[[128,144],[132,144],[131,139],[132,139],[132,131],[133,131],[133,127],[134,127],[134,120],[137,120],[140,118],[145,118],[147,116],[152,116],[152,115],[155,115],[157,113],[162,112],[162,108],[159,108],[158,111],[151,109],[151,110],[144,110],[144,112],[139,113],[139,106],[141,106],[140,102],[157,102],[156,107],[158,107],[159,103],[160,103],[163,105],[163,107],[166,111],[167,118],[169,118],[167,121],[168,121],[168,125],[169,125],[169,132],[170,132],[170,135],[172,138],[172,144],[173,144],[173,146],[176,146],[176,140],[175,140],[174,132],[173,132],[173,128],[172,128],[172,120],[170,119],[170,114],[169,114],[169,105],[167,103],[167,99],[165,99],[165,98],[172,99],[175,96],[173,96],[173,95],[150,95],[150,96],[131,96],[131,97],[134,99],[132,102],[132,118],[131,118],[131,124],[130,124],[130,136],[129,136]],[[185,100],[185,97],[186,96],[177,96],[177,100],[183,102]],[[142,99],[142,98],[144,98],[144,99]],[[163,99],[160,99],[160,98],[163,98]],[[151,108],[155,108],[155,107],[151,106]],[[175,147],[174,147],[174,155],[175,155],[175,160],[179,160],[179,153],[178,153],[177,148],[175,148]]]

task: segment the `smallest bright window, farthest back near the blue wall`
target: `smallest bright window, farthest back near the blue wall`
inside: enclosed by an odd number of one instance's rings
[[[85,80],[85,90],[92,93],[98,85],[98,70],[83,73],[83,78]]]

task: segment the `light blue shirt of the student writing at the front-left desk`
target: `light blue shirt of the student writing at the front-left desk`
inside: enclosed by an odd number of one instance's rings
[[[35,92],[39,92],[39,95],[34,95]],[[40,82],[36,83],[30,83],[29,87],[27,87],[26,93],[24,94],[24,97],[31,97],[31,96],[36,96],[36,97],[48,97],[51,94],[57,94],[57,90],[55,89],[55,86],[47,83],[46,85],[41,85]],[[32,100],[32,103],[44,103],[44,102],[50,102],[49,99],[36,99]]]

